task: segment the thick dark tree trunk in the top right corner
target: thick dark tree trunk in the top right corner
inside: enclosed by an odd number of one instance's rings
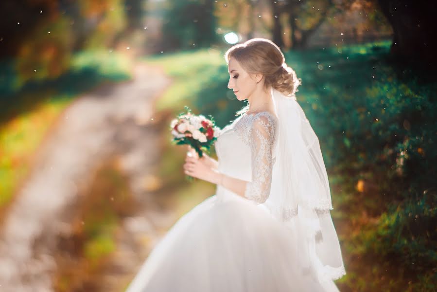
[[[437,61],[437,30],[434,1],[378,0],[393,28],[390,53],[425,65]]]

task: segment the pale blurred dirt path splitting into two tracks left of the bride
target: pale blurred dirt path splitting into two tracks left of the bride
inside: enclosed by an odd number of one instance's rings
[[[51,274],[56,264],[51,252],[56,237],[69,232],[65,215],[78,188],[88,183],[89,173],[114,156],[120,157],[139,204],[138,215],[123,220],[118,251],[99,289],[121,291],[148,253],[147,245],[138,245],[144,233],[153,241],[157,224],[165,228],[175,220],[172,213],[157,211],[145,187],[159,158],[152,104],[169,83],[156,68],[139,65],[132,81],[90,92],[64,112],[4,221],[0,291],[53,291]]]

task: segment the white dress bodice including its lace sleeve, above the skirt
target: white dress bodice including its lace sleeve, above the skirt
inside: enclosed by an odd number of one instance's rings
[[[244,113],[220,130],[215,149],[218,171],[250,182],[245,197],[262,203],[270,192],[277,118],[268,111]],[[233,197],[231,191],[218,186],[218,197]]]

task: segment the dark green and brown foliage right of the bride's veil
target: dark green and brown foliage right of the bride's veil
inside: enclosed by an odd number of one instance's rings
[[[396,264],[404,281],[432,291],[437,82],[390,65],[384,44],[322,51],[287,57],[297,63],[297,99],[318,134],[328,169],[346,177],[349,185],[341,187],[356,193],[340,209],[376,220],[364,224],[366,232],[357,238],[364,255],[383,256],[374,264]]]

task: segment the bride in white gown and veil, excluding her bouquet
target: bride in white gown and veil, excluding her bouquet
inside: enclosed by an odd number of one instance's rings
[[[295,97],[300,81],[270,40],[225,54],[228,88],[248,100],[219,131],[218,161],[187,153],[187,175],[215,195],[158,242],[127,292],[338,291],[345,273],[318,139]]]

